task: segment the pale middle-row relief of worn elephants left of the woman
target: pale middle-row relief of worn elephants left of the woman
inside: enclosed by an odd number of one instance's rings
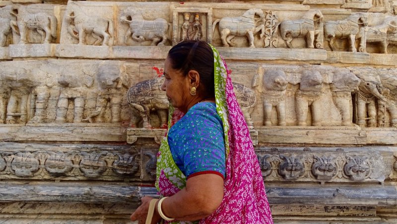
[[[121,62],[49,60],[17,64],[4,62],[0,69],[2,124],[127,124],[131,119],[125,98],[130,77]]]

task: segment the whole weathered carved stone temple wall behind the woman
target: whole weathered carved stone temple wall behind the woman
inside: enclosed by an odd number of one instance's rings
[[[228,63],[275,223],[396,223],[396,8],[0,0],[0,222],[128,223],[155,197],[164,60],[189,39]]]

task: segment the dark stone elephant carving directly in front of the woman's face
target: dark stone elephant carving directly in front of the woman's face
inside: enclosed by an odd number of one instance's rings
[[[161,90],[164,77],[144,80],[133,85],[127,92],[127,101],[132,112],[143,120],[143,128],[151,128],[150,111],[156,111],[160,119],[160,127],[167,127],[169,101]],[[136,124],[132,124],[136,126]]]

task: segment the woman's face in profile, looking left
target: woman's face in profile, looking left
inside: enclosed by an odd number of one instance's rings
[[[167,57],[164,64],[165,81],[161,89],[165,91],[168,100],[175,108],[186,106],[186,96],[189,94],[189,81],[180,71],[172,69],[171,60]]]

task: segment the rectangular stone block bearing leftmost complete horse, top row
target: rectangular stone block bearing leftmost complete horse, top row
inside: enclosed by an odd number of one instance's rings
[[[49,44],[57,42],[58,20],[51,4],[21,5],[10,8],[14,44]]]

